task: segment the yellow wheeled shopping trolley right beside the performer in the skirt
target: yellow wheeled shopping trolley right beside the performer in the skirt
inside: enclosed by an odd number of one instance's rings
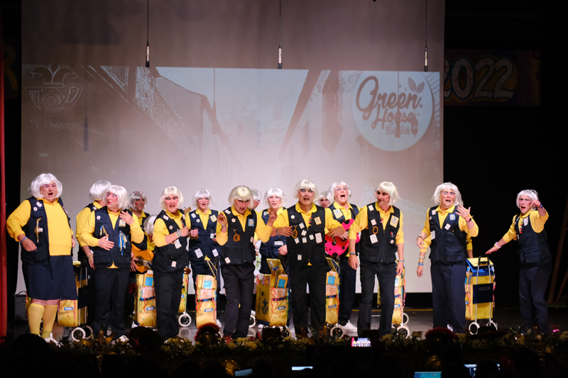
[[[58,306],[58,324],[62,327],[72,328],[71,338],[75,341],[82,338],[88,339],[93,334],[93,329],[87,326],[87,290],[89,286],[87,264],[87,261],[73,262],[77,299],[60,299]],[[66,332],[67,330],[65,330]]]

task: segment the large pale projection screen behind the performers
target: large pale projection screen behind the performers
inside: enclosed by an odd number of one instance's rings
[[[55,174],[75,229],[99,179],[144,191],[152,214],[169,185],[223,210],[240,184],[290,206],[300,179],[342,180],[366,206],[391,181],[407,291],[431,291],[413,269],[442,182],[444,1],[428,3],[428,72],[421,1],[283,1],[281,37],[278,1],[151,1],[148,37],[146,1],[97,4],[23,3],[21,199]]]

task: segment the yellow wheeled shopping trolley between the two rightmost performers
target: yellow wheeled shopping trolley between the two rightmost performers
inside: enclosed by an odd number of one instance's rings
[[[476,334],[480,320],[486,320],[486,326],[497,329],[493,321],[493,289],[495,288],[495,268],[489,257],[467,259],[466,270],[466,320],[471,321],[469,331]]]

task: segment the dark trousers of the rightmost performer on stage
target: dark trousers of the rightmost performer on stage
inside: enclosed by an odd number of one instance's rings
[[[519,272],[520,318],[532,328],[537,321],[540,333],[548,333],[548,308],[545,301],[546,285],[552,263],[527,267],[521,265]]]

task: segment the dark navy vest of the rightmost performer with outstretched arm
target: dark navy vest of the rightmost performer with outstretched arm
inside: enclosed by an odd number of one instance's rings
[[[520,251],[518,251],[520,263],[536,266],[552,262],[546,230],[543,228],[542,232],[535,233],[530,224],[530,216],[525,218],[527,224],[523,223],[519,229],[519,218],[520,215],[515,218],[515,232],[520,244]]]

